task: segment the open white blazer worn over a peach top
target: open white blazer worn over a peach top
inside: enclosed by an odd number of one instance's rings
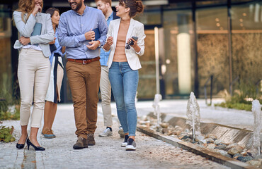
[[[113,37],[113,44],[110,46],[111,51],[108,57],[108,68],[111,67],[113,62],[116,41],[118,39],[119,26],[120,26],[120,19],[116,19],[116,20],[112,20],[108,27],[108,35],[106,39],[108,39],[108,37]],[[139,68],[141,68],[138,55],[142,56],[144,54],[144,38],[146,37],[146,35],[144,34],[144,25],[132,18],[130,20],[130,25],[127,31],[127,37],[125,43],[127,43],[127,40],[131,37],[138,37],[137,45],[140,47],[141,50],[139,52],[136,52],[135,49],[130,47],[130,49],[125,49],[125,56],[127,57],[127,63],[129,64],[130,68],[132,70],[138,70]]]

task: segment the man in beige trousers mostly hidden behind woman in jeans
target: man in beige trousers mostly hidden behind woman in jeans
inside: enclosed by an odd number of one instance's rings
[[[106,22],[109,25],[111,20],[118,19],[119,17],[115,15],[115,12],[113,12],[111,4],[111,0],[95,0],[96,6],[98,9],[100,9],[103,12],[103,15],[105,15]],[[101,99],[102,99],[102,111],[103,111],[103,123],[106,126],[106,130],[103,130],[101,134],[99,134],[100,137],[107,137],[113,134],[112,132],[112,113],[111,113],[111,85],[108,78],[108,56],[110,54],[110,51],[106,52],[101,50],[100,53],[100,63],[101,63],[101,78],[100,78],[100,92],[101,92]],[[120,133],[120,136],[122,134],[122,137],[125,137],[125,133],[123,132],[122,127],[120,127],[120,130],[118,131]]]

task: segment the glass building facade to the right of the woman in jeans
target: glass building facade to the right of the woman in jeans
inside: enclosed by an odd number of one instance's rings
[[[229,92],[236,77],[252,83],[261,80],[261,1],[197,1],[154,8],[159,9],[161,15],[161,25],[159,19],[153,25],[159,27],[160,92],[165,99],[183,98],[195,89],[198,96],[203,97],[204,86],[211,75],[215,96],[224,89]],[[154,21],[154,17],[150,22],[145,20],[149,15],[152,11],[145,11],[143,17],[136,19],[150,23],[145,24],[149,27]],[[146,46],[145,56],[151,57],[150,64],[154,65],[154,30],[149,27],[146,33],[150,45]],[[140,72],[142,87],[138,96],[143,99],[143,88],[146,88],[144,99],[154,98],[155,70],[142,65]],[[152,77],[151,84],[144,83],[144,77]],[[207,94],[210,94],[210,82],[207,84]]]

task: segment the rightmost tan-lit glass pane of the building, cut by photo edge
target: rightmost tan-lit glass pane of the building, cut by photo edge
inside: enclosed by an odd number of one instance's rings
[[[232,5],[232,78],[256,84],[262,77],[262,2]]]

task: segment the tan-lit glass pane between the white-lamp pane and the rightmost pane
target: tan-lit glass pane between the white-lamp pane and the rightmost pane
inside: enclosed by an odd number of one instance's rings
[[[213,94],[217,94],[229,87],[227,6],[197,9],[196,23],[199,94],[203,96],[205,82],[211,75]]]

